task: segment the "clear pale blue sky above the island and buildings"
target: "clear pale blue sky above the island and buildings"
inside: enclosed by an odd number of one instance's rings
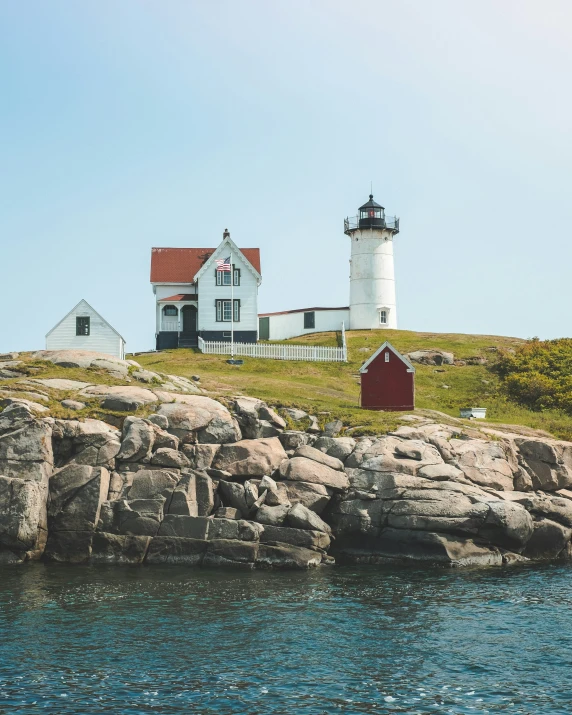
[[[259,246],[261,311],[348,302],[401,218],[400,327],[572,333],[568,0],[0,3],[0,352],[80,298],[154,344],[151,246]]]

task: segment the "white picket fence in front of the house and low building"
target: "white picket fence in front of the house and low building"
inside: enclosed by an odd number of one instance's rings
[[[342,325],[341,348],[321,345],[273,345],[269,343],[234,343],[235,357],[267,358],[270,360],[306,360],[310,362],[347,362],[346,332]],[[207,355],[230,355],[229,342],[206,341],[199,337],[199,350]]]

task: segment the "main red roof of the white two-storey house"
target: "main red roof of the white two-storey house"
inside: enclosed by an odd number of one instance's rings
[[[192,283],[214,251],[214,248],[152,248],[151,283]],[[240,251],[260,273],[260,249]]]

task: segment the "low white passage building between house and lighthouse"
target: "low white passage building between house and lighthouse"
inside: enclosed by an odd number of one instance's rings
[[[347,328],[349,308],[301,308],[258,316],[260,340],[288,340],[308,333],[326,333]]]

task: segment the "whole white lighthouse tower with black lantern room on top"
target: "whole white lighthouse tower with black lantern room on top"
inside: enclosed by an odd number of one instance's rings
[[[397,328],[393,237],[399,219],[369,195],[359,215],[346,218],[344,233],[351,238],[350,329]]]

